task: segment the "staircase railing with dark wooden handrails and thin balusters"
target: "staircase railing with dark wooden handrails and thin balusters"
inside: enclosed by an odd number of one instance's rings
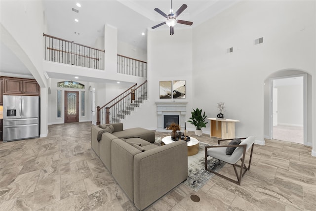
[[[133,85],[106,105],[97,106],[96,125],[119,123],[124,112],[133,111],[141,100],[147,99],[147,80],[136,87]]]

